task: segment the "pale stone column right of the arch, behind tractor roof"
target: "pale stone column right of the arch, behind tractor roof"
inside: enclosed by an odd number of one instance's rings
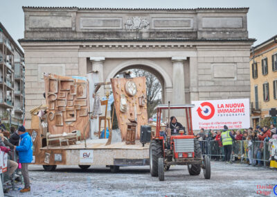
[[[184,76],[184,60],[186,57],[172,57],[173,75],[172,75],[172,85],[173,85],[173,98],[172,104],[185,104],[185,76]],[[182,110],[172,110],[170,117],[175,116],[177,120],[185,126],[184,111]]]

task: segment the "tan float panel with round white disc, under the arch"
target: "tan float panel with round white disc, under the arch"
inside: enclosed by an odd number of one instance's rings
[[[145,102],[145,105],[139,103],[139,96],[146,94],[145,80],[145,77],[111,78],[118,128],[120,128],[123,141],[127,139],[129,119],[136,120],[136,128],[141,128],[141,125],[148,123],[147,103]],[[122,101],[123,98],[124,101]],[[136,131],[136,139],[140,139],[138,131]]]

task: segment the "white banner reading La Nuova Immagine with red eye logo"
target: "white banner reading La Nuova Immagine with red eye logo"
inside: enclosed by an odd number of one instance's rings
[[[249,99],[193,101],[193,130],[249,128]]]

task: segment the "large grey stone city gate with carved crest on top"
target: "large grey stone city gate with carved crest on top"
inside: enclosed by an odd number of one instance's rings
[[[250,98],[248,8],[23,10],[26,111],[45,104],[44,72],[106,82],[139,68],[164,103]]]

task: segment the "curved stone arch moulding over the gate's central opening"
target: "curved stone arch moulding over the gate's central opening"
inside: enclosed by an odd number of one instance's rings
[[[110,78],[114,78],[120,71],[126,69],[144,69],[156,76],[162,87],[162,101],[164,102],[168,98],[166,89],[172,89],[172,79],[168,73],[157,63],[146,59],[132,59],[121,62],[118,66],[114,67],[112,71],[107,75],[106,82],[109,82]]]

